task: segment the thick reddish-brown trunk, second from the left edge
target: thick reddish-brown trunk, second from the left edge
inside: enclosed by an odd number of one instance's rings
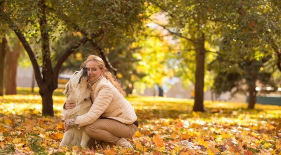
[[[6,55],[6,95],[17,94],[17,68],[18,68],[18,58],[20,52],[22,51],[22,46],[19,42],[15,44],[13,51],[8,51]]]

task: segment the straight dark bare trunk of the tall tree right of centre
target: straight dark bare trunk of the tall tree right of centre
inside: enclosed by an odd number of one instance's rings
[[[202,34],[201,37],[195,40],[194,46],[196,51],[196,70],[195,70],[195,96],[193,111],[205,111],[204,110],[204,65],[205,65],[205,37]]]

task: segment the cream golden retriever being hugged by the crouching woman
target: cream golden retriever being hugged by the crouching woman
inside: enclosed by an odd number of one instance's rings
[[[92,105],[90,99],[91,87],[88,84],[88,70],[86,68],[75,71],[66,84],[64,94],[67,101],[73,101],[76,106],[73,109],[63,110],[64,119],[74,119],[78,115],[87,113]],[[64,145],[78,145],[86,147],[90,137],[83,128],[72,127],[68,129],[62,138],[60,147]]]

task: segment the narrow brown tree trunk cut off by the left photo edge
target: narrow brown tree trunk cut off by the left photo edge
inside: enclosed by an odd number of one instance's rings
[[[7,45],[7,40],[4,36],[1,38],[1,43],[0,43],[0,96],[4,95],[4,69],[5,69],[6,45]]]

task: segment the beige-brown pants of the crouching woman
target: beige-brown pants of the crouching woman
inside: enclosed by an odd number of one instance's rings
[[[131,138],[138,127],[135,124],[124,124],[110,119],[98,119],[85,126],[85,132],[95,140],[116,144],[120,138]]]

